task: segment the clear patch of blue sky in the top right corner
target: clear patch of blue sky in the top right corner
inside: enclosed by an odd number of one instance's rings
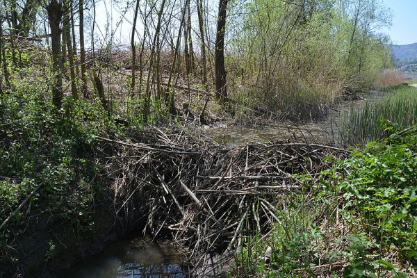
[[[394,44],[417,42],[417,0],[384,0],[391,8],[393,24],[386,30]]]

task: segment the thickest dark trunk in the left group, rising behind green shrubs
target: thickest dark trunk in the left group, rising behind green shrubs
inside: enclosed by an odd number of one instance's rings
[[[52,69],[55,75],[52,101],[57,108],[60,108],[63,102],[63,54],[60,38],[60,22],[63,16],[63,7],[57,0],[51,0],[47,6],[47,12],[51,28]]]

